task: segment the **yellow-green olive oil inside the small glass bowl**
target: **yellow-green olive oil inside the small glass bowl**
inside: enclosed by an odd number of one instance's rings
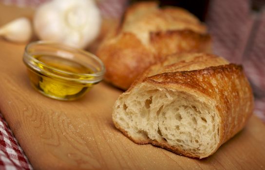
[[[93,70],[71,59],[53,55],[33,55],[33,58],[38,62],[32,63],[41,71],[29,69],[31,82],[46,96],[74,100],[95,84],[76,81],[94,79]]]

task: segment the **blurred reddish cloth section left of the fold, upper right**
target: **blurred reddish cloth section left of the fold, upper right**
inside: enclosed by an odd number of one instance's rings
[[[206,22],[213,51],[233,63],[242,63],[253,24],[249,0],[211,0]]]

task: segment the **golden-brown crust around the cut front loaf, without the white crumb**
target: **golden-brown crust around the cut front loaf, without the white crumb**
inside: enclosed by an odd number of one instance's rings
[[[126,93],[130,93],[138,85],[148,84],[156,88],[187,92],[200,96],[204,102],[212,103],[219,118],[217,122],[219,140],[217,147],[206,155],[209,156],[242,130],[253,113],[253,94],[242,66],[227,63],[226,60],[212,54],[183,53],[178,57],[171,56],[163,63],[148,68]],[[167,142],[137,140],[129,136],[117,123],[115,126],[135,143],[151,143],[177,154],[205,157],[205,155],[180,151]]]

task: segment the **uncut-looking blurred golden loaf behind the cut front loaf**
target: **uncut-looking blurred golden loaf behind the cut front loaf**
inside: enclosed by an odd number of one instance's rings
[[[167,55],[210,52],[206,26],[188,11],[139,2],[127,9],[117,29],[106,36],[97,56],[106,66],[105,80],[128,89],[136,77]]]

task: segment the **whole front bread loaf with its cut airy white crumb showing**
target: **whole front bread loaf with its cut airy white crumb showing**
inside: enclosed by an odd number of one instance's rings
[[[253,112],[239,65],[205,53],[153,65],[114,104],[114,125],[138,144],[204,158],[238,133]]]

